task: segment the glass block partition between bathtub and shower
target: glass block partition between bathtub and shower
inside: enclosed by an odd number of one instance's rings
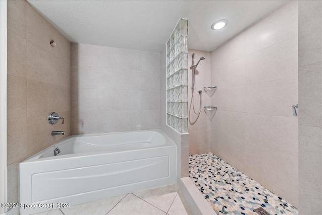
[[[167,42],[167,124],[188,132],[188,20],[180,19]]]

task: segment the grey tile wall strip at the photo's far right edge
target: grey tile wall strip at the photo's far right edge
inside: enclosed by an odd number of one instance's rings
[[[322,1],[298,10],[299,214],[322,214]]]

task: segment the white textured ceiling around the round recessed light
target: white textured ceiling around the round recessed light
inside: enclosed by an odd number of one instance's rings
[[[27,0],[69,41],[161,52],[179,18],[188,18],[189,48],[212,51],[287,1]],[[213,22],[227,27],[213,31]]]

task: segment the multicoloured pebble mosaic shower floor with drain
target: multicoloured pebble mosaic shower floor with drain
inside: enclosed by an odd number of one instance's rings
[[[218,214],[258,215],[262,207],[271,215],[297,215],[298,210],[212,153],[191,155],[189,174]]]

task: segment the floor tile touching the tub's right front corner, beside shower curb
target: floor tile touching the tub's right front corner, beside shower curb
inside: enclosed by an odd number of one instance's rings
[[[133,194],[167,212],[175,199],[178,190],[177,184],[172,184],[154,189],[142,190]]]

